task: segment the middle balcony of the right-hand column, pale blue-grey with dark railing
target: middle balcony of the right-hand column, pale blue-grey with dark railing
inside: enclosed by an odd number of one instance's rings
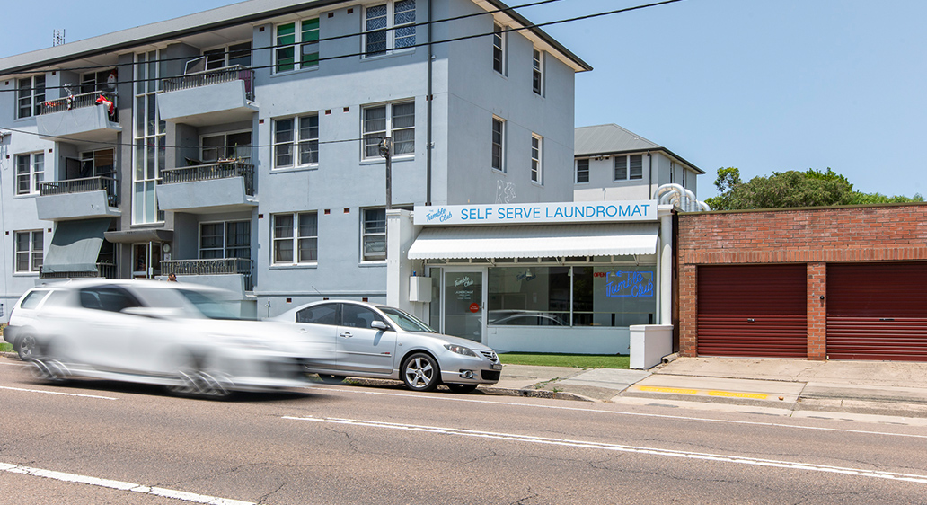
[[[161,170],[158,205],[161,210],[206,213],[255,207],[254,165],[217,161]]]

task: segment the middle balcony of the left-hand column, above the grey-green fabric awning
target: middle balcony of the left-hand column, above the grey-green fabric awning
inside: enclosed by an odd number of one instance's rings
[[[112,177],[84,177],[39,185],[35,208],[40,220],[71,221],[120,215]]]

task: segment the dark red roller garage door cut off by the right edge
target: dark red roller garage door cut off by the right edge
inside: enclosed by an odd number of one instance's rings
[[[828,265],[827,355],[927,361],[927,263]]]

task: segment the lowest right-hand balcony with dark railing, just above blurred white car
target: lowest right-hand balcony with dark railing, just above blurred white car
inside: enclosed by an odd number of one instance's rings
[[[243,258],[171,259],[161,261],[161,275],[177,276],[178,282],[208,284],[236,293],[251,291],[254,261]],[[186,279],[184,279],[186,277]]]

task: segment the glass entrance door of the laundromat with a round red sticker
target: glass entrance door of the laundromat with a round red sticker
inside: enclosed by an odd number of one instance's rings
[[[483,342],[486,334],[486,269],[444,271],[442,332]]]

